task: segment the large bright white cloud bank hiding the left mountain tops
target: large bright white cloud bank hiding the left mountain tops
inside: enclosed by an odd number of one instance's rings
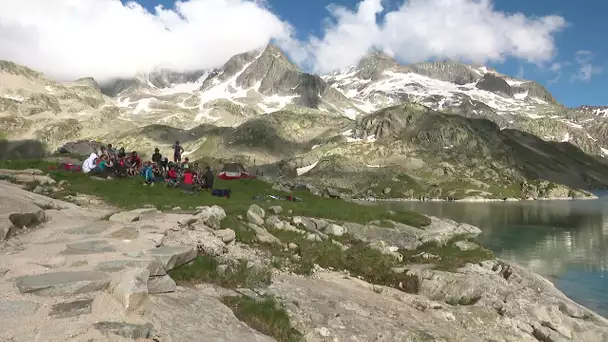
[[[217,67],[290,34],[259,0],[191,0],[154,13],[120,0],[0,0],[0,59],[60,79]]]

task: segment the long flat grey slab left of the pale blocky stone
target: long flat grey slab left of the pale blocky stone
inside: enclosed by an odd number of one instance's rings
[[[110,276],[97,271],[54,272],[15,279],[21,293],[39,296],[71,296],[100,291],[110,285]]]

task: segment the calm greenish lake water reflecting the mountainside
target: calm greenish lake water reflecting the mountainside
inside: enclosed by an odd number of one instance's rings
[[[386,205],[479,227],[478,240],[499,258],[547,277],[568,297],[608,317],[608,198]]]

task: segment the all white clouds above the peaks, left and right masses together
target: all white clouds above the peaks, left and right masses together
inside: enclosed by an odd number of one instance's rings
[[[333,21],[323,35],[300,42],[265,0],[185,0],[153,12],[119,0],[0,0],[0,59],[59,79],[103,81],[155,67],[217,67],[275,39],[320,72],[352,65],[373,48],[404,62],[540,63],[552,59],[553,36],[566,25],[558,16],[499,12],[490,0],[409,0],[388,13],[382,0],[329,9]]]

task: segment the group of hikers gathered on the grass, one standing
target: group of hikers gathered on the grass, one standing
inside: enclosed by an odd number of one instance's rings
[[[158,148],[154,149],[151,161],[143,162],[137,151],[129,154],[124,148],[114,149],[112,144],[102,146],[82,163],[82,172],[102,178],[144,177],[144,185],[154,185],[159,181],[166,186],[192,189],[212,189],[214,174],[210,167],[199,169],[189,158],[182,160],[184,153],[179,141],[173,145],[173,161],[164,157]]]

